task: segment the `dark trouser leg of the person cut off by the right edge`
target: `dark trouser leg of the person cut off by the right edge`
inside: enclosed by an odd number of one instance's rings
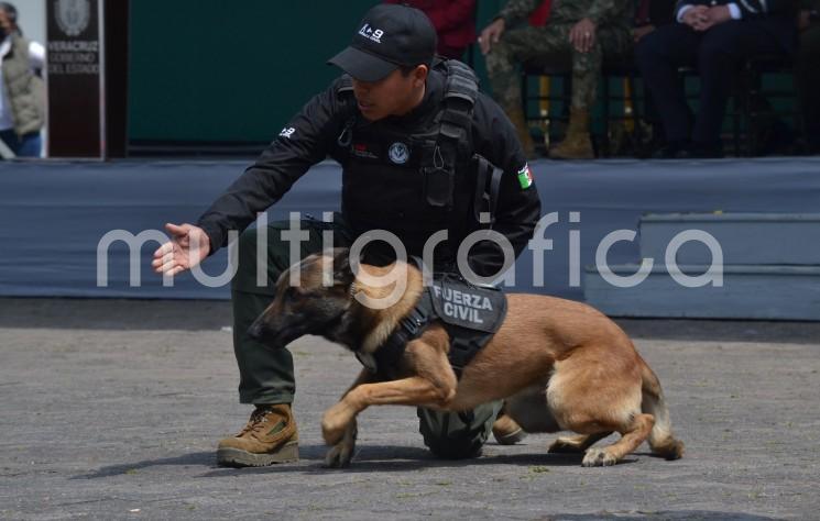
[[[795,57],[795,79],[800,95],[806,138],[812,152],[820,152],[820,24],[800,33]]]

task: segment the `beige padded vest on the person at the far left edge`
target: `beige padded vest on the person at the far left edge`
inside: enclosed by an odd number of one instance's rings
[[[20,136],[40,131],[45,123],[45,89],[31,70],[29,45],[29,40],[13,34],[11,51],[3,57],[3,86],[14,132]]]

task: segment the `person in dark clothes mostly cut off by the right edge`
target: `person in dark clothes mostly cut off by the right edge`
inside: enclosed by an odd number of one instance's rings
[[[800,2],[799,30],[795,77],[806,124],[806,144],[809,152],[820,154],[820,0]]]

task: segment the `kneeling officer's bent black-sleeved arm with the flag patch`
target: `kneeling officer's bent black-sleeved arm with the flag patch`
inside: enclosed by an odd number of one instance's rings
[[[540,218],[538,190],[526,180],[526,158],[515,129],[501,108],[481,95],[473,122],[478,128],[473,132],[475,151],[504,170],[492,229],[510,241],[517,257]],[[470,267],[479,276],[495,275],[503,265],[503,251],[493,242],[478,243],[471,250]]]

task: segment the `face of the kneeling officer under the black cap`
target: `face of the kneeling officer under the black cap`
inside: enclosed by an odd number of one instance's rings
[[[413,110],[424,97],[427,67],[419,65],[404,76],[396,69],[379,81],[353,79],[353,95],[359,110],[368,121],[389,115],[403,115]]]

